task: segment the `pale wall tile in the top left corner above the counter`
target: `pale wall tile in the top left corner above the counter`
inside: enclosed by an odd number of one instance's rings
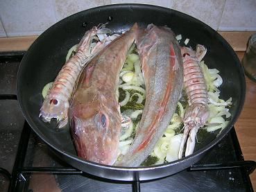
[[[0,1],[0,16],[9,37],[39,35],[56,22],[52,0]]]

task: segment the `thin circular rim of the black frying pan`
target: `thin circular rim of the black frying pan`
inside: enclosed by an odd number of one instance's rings
[[[47,30],[44,31],[44,33],[42,33],[42,35],[40,35],[39,37],[37,37],[37,40],[35,40],[35,42],[33,42],[33,44],[31,45],[31,47],[28,49],[28,51],[26,52],[26,54],[24,55],[24,58],[22,59],[22,61],[25,61],[26,58],[28,57],[28,53],[31,49],[33,49],[34,46],[37,45],[37,42],[40,38],[44,37],[45,33],[50,30],[51,28],[54,28],[55,26],[61,24],[62,22],[67,21],[67,19],[71,19],[72,17],[75,17],[76,15],[80,15],[83,14],[83,12],[94,12],[96,10],[99,10],[99,8],[158,8],[162,11],[173,11],[176,12],[176,14],[178,15],[186,15],[186,17],[191,17],[183,12],[179,12],[177,10],[172,10],[169,8],[164,8],[164,7],[160,7],[160,6],[153,6],[153,5],[146,5],[146,4],[139,4],[139,3],[122,3],[122,4],[112,4],[112,5],[108,5],[108,6],[101,6],[101,7],[97,7],[97,8],[91,8],[88,10],[83,10],[80,12],[77,12],[74,15],[70,15],[69,17],[66,17],[65,19],[62,19],[61,21],[58,21],[56,24],[54,24],[53,26],[51,26],[50,28],[48,28]],[[193,19],[196,19],[194,17],[191,17]],[[196,19],[196,21],[200,22],[201,24],[203,24],[203,26],[205,26],[207,28],[207,30],[212,30],[215,31],[214,29],[212,29],[210,26],[208,26],[207,24],[203,23],[202,21]],[[216,32],[216,31],[215,31]],[[228,44],[228,42],[226,42],[223,37],[221,37],[221,35],[216,34],[217,36],[219,36],[219,40],[221,40],[221,42],[223,42],[223,44],[225,45],[225,48],[227,48],[230,53],[232,53],[232,55],[234,56],[235,62],[239,63],[239,59],[237,58],[237,55],[234,54],[234,50],[231,48],[230,44]],[[19,70],[17,73],[17,79],[21,78],[22,76],[22,71],[24,70],[23,67],[24,64],[22,65],[22,62],[19,66]],[[244,72],[243,68],[241,67],[242,72]],[[143,166],[143,167],[121,167],[121,166],[108,166],[108,165],[103,165],[103,164],[97,164],[95,162],[89,162],[87,160],[84,159],[80,159],[80,157],[71,154],[70,152],[65,152],[64,150],[60,150],[60,148],[58,148],[58,146],[53,145],[53,143],[51,143],[51,141],[49,139],[47,139],[47,137],[44,136],[44,134],[42,134],[42,132],[40,132],[40,128],[37,128],[37,125],[35,125],[33,119],[31,118],[31,115],[27,112],[26,110],[26,106],[24,106],[24,103],[22,103],[22,94],[20,93],[20,82],[17,81],[17,99],[19,101],[19,106],[22,109],[22,114],[24,115],[26,121],[28,122],[28,124],[31,126],[31,128],[33,129],[34,132],[36,132],[36,134],[38,136],[40,136],[41,139],[43,139],[43,141],[45,141],[47,143],[47,145],[49,145],[51,148],[53,148],[54,150],[56,150],[57,152],[60,152],[62,155],[65,155],[73,160],[76,160],[80,163],[83,164],[87,164],[89,166],[96,166],[99,168],[107,168],[110,170],[115,170],[115,171],[136,171],[136,172],[140,172],[140,171],[150,171],[150,170],[155,170],[155,169],[160,169],[160,168],[166,168],[167,166],[171,166],[171,165],[176,165],[180,162],[187,162],[190,159],[192,159],[193,157],[196,157],[198,155],[202,155],[204,152],[206,152],[207,150],[210,150],[210,148],[212,148],[213,146],[216,145],[216,143],[219,143],[219,141],[221,141],[221,139],[223,139],[223,137],[225,137],[226,134],[228,134],[228,132],[230,131],[230,129],[234,126],[234,123],[237,121],[237,119],[239,118],[239,115],[241,114],[241,111],[244,107],[244,101],[245,101],[245,95],[246,95],[246,82],[245,82],[245,76],[241,77],[241,85],[244,85],[244,87],[242,86],[241,88],[241,105],[239,107],[239,109],[237,110],[237,115],[234,119],[232,119],[232,122],[230,122],[230,127],[225,128],[223,130],[223,132],[219,135],[219,137],[216,137],[214,140],[212,140],[210,143],[208,143],[206,146],[204,146],[203,148],[200,148],[199,150],[197,150],[196,152],[194,152],[192,155],[189,155],[188,157],[183,157],[182,159],[178,159],[174,162],[169,162],[167,164],[160,164],[160,165],[155,165],[155,166]]]

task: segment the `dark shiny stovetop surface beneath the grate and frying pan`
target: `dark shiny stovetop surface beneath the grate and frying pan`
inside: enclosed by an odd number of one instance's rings
[[[0,55],[1,58],[1,55]],[[16,58],[0,59],[0,168],[12,173],[24,129],[24,116],[15,100],[16,74],[19,61]],[[5,95],[14,95],[6,97]],[[10,99],[7,99],[10,98]],[[29,128],[28,128],[29,129]],[[207,152],[197,164],[218,164],[244,160],[234,128],[219,144]],[[71,168],[46,146],[33,130],[29,131],[28,147],[23,167]],[[133,183],[105,180],[93,175],[24,173],[22,191],[133,191]],[[10,181],[0,174],[0,189],[8,191]],[[248,173],[241,168],[215,171],[189,171],[189,169],[140,183],[141,191],[253,191]]]

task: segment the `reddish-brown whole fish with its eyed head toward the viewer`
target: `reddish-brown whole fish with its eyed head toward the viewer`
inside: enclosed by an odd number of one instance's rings
[[[70,101],[71,134],[79,157],[114,164],[121,134],[119,73],[135,41],[137,24],[108,44],[80,74]]]

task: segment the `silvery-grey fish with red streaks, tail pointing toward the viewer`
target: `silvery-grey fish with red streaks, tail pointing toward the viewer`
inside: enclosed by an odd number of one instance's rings
[[[171,121],[182,91],[180,46],[167,27],[148,25],[137,37],[146,102],[135,139],[117,166],[139,166],[150,155]]]

